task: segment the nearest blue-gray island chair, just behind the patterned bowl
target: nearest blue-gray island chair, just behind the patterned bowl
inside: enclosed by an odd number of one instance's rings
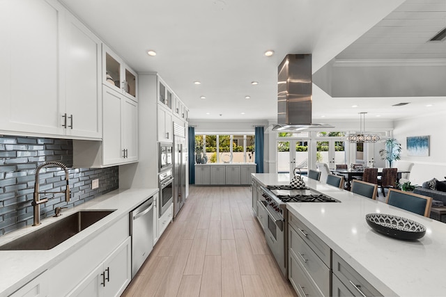
[[[428,196],[389,188],[386,203],[428,218],[431,214],[432,198]]]

